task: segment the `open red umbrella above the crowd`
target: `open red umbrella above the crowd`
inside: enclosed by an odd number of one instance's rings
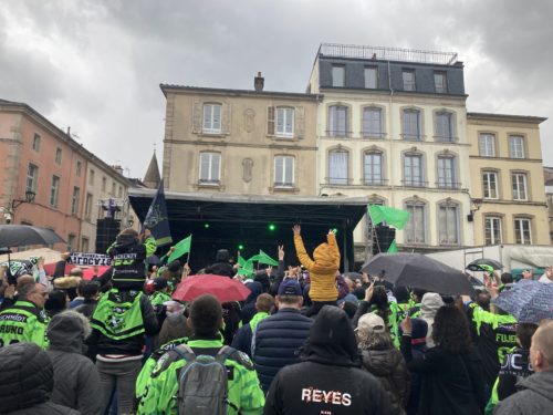
[[[220,302],[242,301],[250,294],[250,289],[243,283],[228,277],[205,274],[190,276],[177,286],[173,299],[177,301],[194,301],[201,294],[211,294]]]

